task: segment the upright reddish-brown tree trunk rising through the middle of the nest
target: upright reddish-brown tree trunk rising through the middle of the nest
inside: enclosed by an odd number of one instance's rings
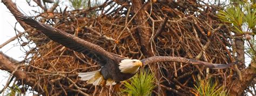
[[[137,12],[137,15],[135,16],[134,18],[134,23],[136,23],[139,27],[136,29],[136,33],[138,35],[138,38],[139,38],[139,44],[140,44],[140,47],[145,56],[146,57],[152,57],[154,56],[154,53],[153,53],[153,50],[152,49],[155,49],[154,45],[150,45],[150,39],[151,39],[151,35],[152,35],[152,31],[151,31],[151,27],[150,27],[150,24],[149,22],[147,22],[147,14],[145,11],[147,11],[148,9],[148,5],[150,4],[149,2],[143,4],[144,2],[143,1],[138,1],[138,0],[132,0],[132,12],[134,14],[136,14]],[[154,30],[154,29],[152,29]],[[151,48],[152,47],[152,48]],[[157,65],[149,65],[151,70],[154,72],[155,74],[155,77],[157,80],[160,79],[160,73],[159,73],[159,69],[157,67]],[[160,87],[160,86],[158,86]],[[156,88],[156,89],[160,89],[160,88]],[[164,90],[164,89],[162,89]]]

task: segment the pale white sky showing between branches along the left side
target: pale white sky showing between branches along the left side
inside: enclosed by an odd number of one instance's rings
[[[65,0],[67,1],[67,0]],[[66,3],[66,2],[65,2]],[[30,10],[38,10],[38,8],[32,8],[31,6],[26,3],[25,0],[17,0],[16,4],[19,9],[22,9],[24,13],[27,15],[30,15]],[[31,4],[35,4],[31,2]],[[30,11],[30,12],[29,12]],[[6,6],[0,2],[0,44],[3,44],[7,40],[9,40],[11,37],[16,36],[16,32],[14,30],[15,23],[17,23],[17,20],[15,17],[10,13],[10,11],[6,8]],[[16,29],[18,31],[23,32],[24,29],[17,23]],[[9,57],[12,57],[16,60],[23,60],[23,56],[25,54],[25,50],[20,46],[18,43],[18,40],[15,39],[11,43],[5,45],[0,49],[3,53],[7,54]],[[6,71],[0,70],[0,90],[5,86],[7,79],[9,78],[9,73]],[[1,94],[0,94],[1,95]]]

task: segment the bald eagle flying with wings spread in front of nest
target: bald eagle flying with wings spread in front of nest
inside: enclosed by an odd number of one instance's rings
[[[232,64],[212,64],[204,61],[187,59],[183,57],[154,56],[142,60],[128,59],[105,51],[102,47],[80,39],[65,31],[53,28],[52,26],[37,22],[35,19],[25,16],[22,13],[15,15],[16,19],[22,20],[32,28],[41,31],[54,42],[62,44],[76,52],[83,53],[87,57],[95,60],[101,68],[93,72],[78,73],[81,80],[87,80],[87,83],[93,85],[114,85],[120,81],[130,79],[139,70],[140,67],[157,63],[160,61],[176,61],[180,63],[189,63],[193,65],[203,65],[209,68],[227,68]]]

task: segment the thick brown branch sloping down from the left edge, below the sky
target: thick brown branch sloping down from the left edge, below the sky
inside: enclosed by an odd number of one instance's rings
[[[18,65],[15,65],[15,63],[12,62],[14,61],[10,61],[9,57],[6,57],[5,54],[0,53],[0,70],[5,70],[12,73],[13,71],[15,71],[16,67],[18,67]],[[36,85],[36,80],[28,77],[25,72],[22,72],[22,70],[18,69],[16,72],[14,72],[14,76],[17,78],[17,80],[20,80],[22,83],[31,86],[38,93],[43,92]]]

